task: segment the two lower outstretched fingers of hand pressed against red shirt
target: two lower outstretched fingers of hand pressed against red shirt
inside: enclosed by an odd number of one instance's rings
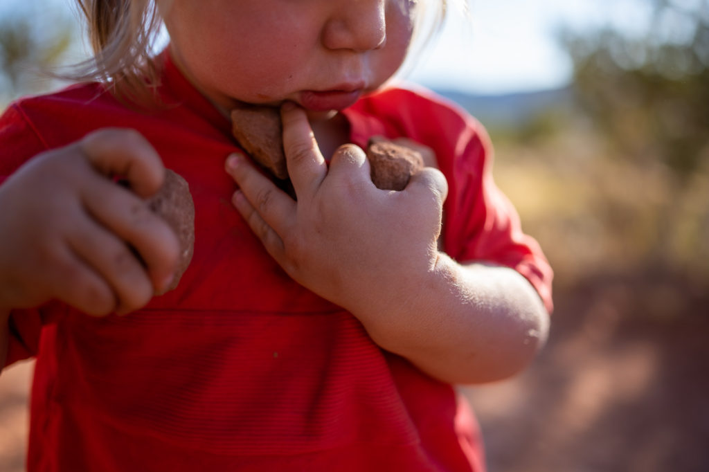
[[[228,157],[226,171],[238,184],[240,194],[245,198],[246,202],[241,203],[248,203],[249,206],[236,205],[238,198],[240,198],[238,194],[235,194],[234,203],[257,235],[262,237],[266,232],[261,227],[261,221],[272,228],[277,235],[285,235],[296,214],[296,202],[293,201],[293,198],[278,189],[272,181],[240,154],[231,154]],[[249,208],[257,213],[258,220],[251,211],[247,214],[242,212],[242,209],[248,210]]]

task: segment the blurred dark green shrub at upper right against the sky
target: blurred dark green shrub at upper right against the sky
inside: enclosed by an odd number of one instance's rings
[[[687,179],[709,159],[709,1],[654,0],[640,32],[562,33],[579,104],[626,158]]]

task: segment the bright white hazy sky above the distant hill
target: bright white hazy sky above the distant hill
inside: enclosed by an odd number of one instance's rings
[[[449,0],[455,3],[455,0]],[[701,0],[673,0],[693,3]],[[57,6],[70,0],[0,0],[11,9]],[[464,3],[461,0],[459,3]],[[434,89],[508,94],[569,84],[571,61],[555,39],[559,26],[574,30],[616,23],[642,27],[649,0],[467,0],[469,15],[452,9],[432,47],[406,76]]]

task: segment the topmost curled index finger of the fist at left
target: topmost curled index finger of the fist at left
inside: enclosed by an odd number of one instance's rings
[[[138,195],[151,196],[160,189],[162,160],[137,131],[104,128],[86,135],[79,145],[96,170],[106,176],[121,176]]]

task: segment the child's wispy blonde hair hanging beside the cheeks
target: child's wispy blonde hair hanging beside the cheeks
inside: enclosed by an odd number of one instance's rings
[[[155,0],[76,0],[86,18],[86,28],[94,56],[77,64],[69,77],[96,80],[108,86],[121,99],[135,103],[157,100],[160,70],[153,53],[162,27]],[[424,12],[430,15],[430,1],[423,0]],[[423,33],[430,40],[440,28],[448,6],[464,0],[437,0],[435,16]],[[423,23],[420,23],[422,25]]]

